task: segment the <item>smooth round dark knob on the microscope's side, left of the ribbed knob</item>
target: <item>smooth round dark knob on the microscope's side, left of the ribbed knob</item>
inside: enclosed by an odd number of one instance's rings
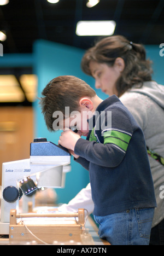
[[[3,190],[3,198],[7,202],[15,202],[17,199],[19,199],[19,196],[19,191],[13,186],[6,187]]]

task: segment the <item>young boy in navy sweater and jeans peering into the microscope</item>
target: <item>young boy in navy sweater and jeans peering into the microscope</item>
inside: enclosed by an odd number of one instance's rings
[[[103,101],[68,75],[51,80],[42,95],[48,129],[63,129],[58,144],[89,170],[99,236],[112,245],[149,245],[154,185],[144,135],[130,112],[118,97]]]

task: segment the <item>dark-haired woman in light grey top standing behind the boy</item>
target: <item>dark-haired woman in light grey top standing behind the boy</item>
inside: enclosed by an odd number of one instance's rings
[[[95,87],[107,95],[115,94],[130,110],[145,135],[149,150],[153,150],[160,159],[164,157],[164,86],[151,79],[151,62],[146,60],[145,49],[123,36],[103,38],[86,51],[81,67],[86,74],[95,78]],[[151,153],[151,152],[149,152]],[[160,155],[160,156],[159,156]],[[164,245],[164,199],[160,198],[164,185],[164,166],[149,156],[154,181],[157,208],[155,209],[150,244]],[[78,194],[84,199],[85,190]],[[86,196],[87,206],[91,210],[89,186]],[[74,208],[76,197],[67,207]],[[90,201],[91,202],[91,201]],[[78,203],[78,202],[77,202]],[[64,206],[63,206],[64,207]],[[81,206],[82,207],[82,206]]]

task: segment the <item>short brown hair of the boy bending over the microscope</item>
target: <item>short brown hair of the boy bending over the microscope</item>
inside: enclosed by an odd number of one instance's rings
[[[96,95],[87,83],[72,75],[62,75],[52,79],[42,91],[43,97],[39,98],[40,107],[49,131],[54,131],[52,124],[56,118],[52,115],[60,111],[65,117],[65,107],[69,107],[69,114],[79,110],[79,100],[82,97]]]

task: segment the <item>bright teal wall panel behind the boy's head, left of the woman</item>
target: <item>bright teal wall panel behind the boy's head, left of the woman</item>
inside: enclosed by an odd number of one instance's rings
[[[34,72],[38,75],[38,97],[46,84],[59,75],[75,75],[89,84],[93,79],[86,76],[80,69],[80,61],[84,51],[62,44],[38,40],[34,43],[35,65]],[[58,143],[60,131],[49,132],[45,126],[43,115],[38,106],[34,104],[36,114],[36,137],[46,137],[48,141]],[[71,172],[66,175],[64,189],[56,189],[58,202],[68,202],[80,189],[89,182],[89,173],[79,164],[71,160]]]

